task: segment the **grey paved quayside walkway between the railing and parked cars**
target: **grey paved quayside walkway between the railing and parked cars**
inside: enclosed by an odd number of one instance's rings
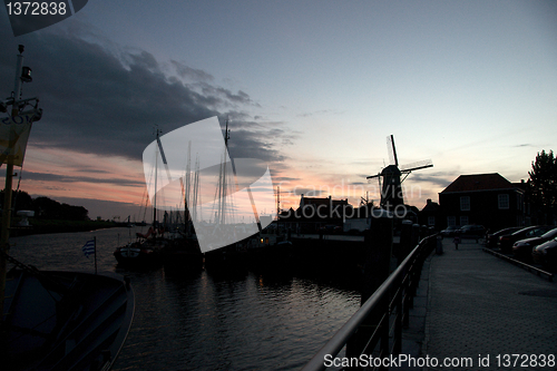
[[[557,370],[557,284],[481,248],[450,238],[431,258],[424,370]]]

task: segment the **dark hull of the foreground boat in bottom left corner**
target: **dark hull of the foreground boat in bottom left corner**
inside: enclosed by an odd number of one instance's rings
[[[129,281],[37,272],[8,276],[0,351],[6,370],[110,369],[134,318]]]

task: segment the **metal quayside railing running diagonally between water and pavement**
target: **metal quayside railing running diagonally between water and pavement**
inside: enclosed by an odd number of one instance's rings
[[[385,358],[389,354],[399,355],[402,346],[402,328],[409,324],[409,311],[413,306],[413,296],[420,281],[423,261],[436,245],[437,234],[421,240],[373,295],[302,370],[325,370],[325,357],[335,358],[346,344],[355,339],[360,342],[360,345],[355,348],[362,348],[362,350],[356,354],[351,354],[350,358],[359,358],[362,354],[374,354],[378,358]],[[371,318],[377,319],[373,324],[370,324]],[[374,330],[368,336],[365,330],[370,329]],[[363,339],[362,333],[365,333]],[[387,370],[388,368],[381,367],[380,369]]]

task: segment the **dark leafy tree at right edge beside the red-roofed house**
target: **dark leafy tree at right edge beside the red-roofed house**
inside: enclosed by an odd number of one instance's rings
[[[554,152],[538,153],[528,175],[530,203],[545,215],[546,223],[550,222],[548,217],[553,218],[557,211],[557,158]]]

